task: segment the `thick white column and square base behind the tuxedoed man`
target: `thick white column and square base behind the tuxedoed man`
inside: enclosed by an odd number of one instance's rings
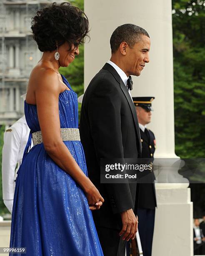
[[[155,97],[149,125],[157,141],[155,158],[176,161],[175,168],[171,163],[160,168],[163,175],[158,177],[162,183],[156,186],[158,208],[152,255],[193,256],[193,205],[188,182],[182,178],[183,184],[166,183],[171,171],[177,173],[179,168],[175,155],[171,0],[128,0],[126,8],[123,0],[84,0],[84,3],[91,28],[90,42],[85,44],[85,89],[110,59],[110,36],[117,26],[134,23],[150,35],[150,63],[140,77],[133,77],[131,93]]]

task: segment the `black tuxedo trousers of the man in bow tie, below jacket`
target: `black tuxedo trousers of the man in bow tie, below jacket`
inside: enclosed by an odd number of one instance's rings
[[[126,240],[119,236],[119,230],[98,226],[96,230],[104,256],[125,256]]]

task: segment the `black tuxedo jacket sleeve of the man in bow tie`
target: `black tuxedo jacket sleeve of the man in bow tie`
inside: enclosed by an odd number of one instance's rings
[[[120,158],[124,151],[121,132],[122,95],[108,80],[102,80],[92,92],[88,105],[88,119],[97,160]],[[134,207],[130,187],[124,184],[105,184],[112,212],[119,213]]]

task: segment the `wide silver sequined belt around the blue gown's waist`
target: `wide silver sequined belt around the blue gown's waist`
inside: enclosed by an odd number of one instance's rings
[[[80,141],[78,128],[60,128],[60,137],[62,141]],[[41,131],[32,133],[33,146],[43,143]]]

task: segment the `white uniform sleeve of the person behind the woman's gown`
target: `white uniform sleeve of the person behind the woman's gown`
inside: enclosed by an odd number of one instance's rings
[[[4,133],[2,149],[2,188],[3,200],[13,200],[15,168],[20,151],[21,129],[12,128]]]

